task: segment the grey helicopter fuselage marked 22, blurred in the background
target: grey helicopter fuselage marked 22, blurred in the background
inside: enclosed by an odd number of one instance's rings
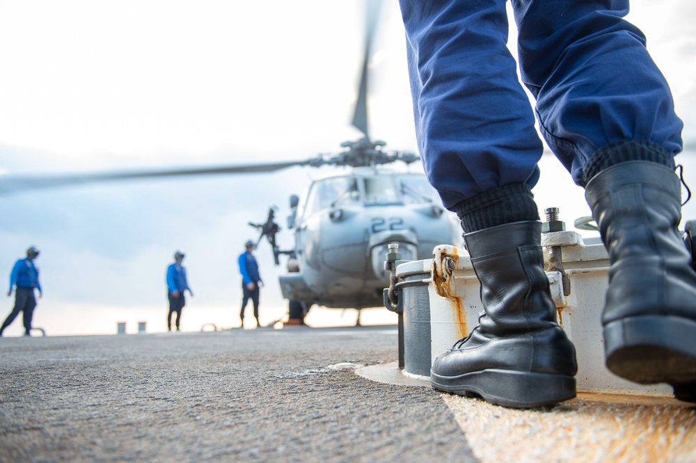
[[[295,258],[280,277],[283,296],[307,307],[363,309],[382,304],[390,243],[403,259],[428,259],[461,232],[423,174],[355,169],[317,180],[294,210]]]

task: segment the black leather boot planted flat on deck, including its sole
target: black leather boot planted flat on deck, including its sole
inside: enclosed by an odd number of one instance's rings
[[[465,234],[481,282],[479,325],[432,366],[435,389],[505,407],[574,398],[575,348],[556,323],[541,253],[541,222]]]

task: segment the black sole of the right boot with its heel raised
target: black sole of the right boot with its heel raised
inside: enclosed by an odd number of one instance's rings
[[[606,366],[640,384],[666,382],[675,396],[696,401],[696,321],[635,316],[604,326]]]

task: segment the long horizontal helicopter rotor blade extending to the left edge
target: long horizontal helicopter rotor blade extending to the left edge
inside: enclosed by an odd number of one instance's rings
[[[0,195],[12,193],[18,190],[30,190],[35,188],[54,188],[58,186],[72,186],[81,184],[94,184],[102,181],[119,181],[131,179],[154,179],[166,177],[192,177],[196,175],[219,174],[252,174],[262,172],[275,172],[294,165],[308,165],[310,161],[286,161],[281,163],[221,165],[205,168],[176,168],[161,170],[133,170],[116,172],[94,172],[88,174],[63,174],[53,176],[13,176],[0,175]]]

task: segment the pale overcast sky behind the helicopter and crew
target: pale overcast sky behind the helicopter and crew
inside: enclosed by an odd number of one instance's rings
[[[386,3],[372,60],[370,129],[388,147],[415,150],[403,26],[397,2]],[[360,136],[349,120],[363,6],[0,0],[0,172],[303,160],[337,152],[342,141]],[[696,3],[641,0],[632,8],[629,18],[647,34],[693,145]],[[45,298],[36,319],[49,334],[113,332],[116,321],[139,319],[156,331],[164,328],[164,271],[182,249],[196,292],[184,322],[188,317],[196,330],[201,320],[230,326],[241,298],[236,257],[255,237],[247,222],[261,222],[275,204],[285,228],[288,195],[324,173],[290,168],[3,196],[0,275],[37,245]],[[685,175],[696,185],[696,174]],[[582,190],[568,184],[557,163],[544,159],[539,205],[560,206],[572,222],[589,211]],[[696,216],[691,211],[685,216]],[[289,246],[291,237],[280,241]],[[282,307],[271,252],[262,247],[258,254],[268,282],[262,302]],[[11,305],[0,300],[0,318]],[[9,333],[21,332],[20,325],[15,321]]]

